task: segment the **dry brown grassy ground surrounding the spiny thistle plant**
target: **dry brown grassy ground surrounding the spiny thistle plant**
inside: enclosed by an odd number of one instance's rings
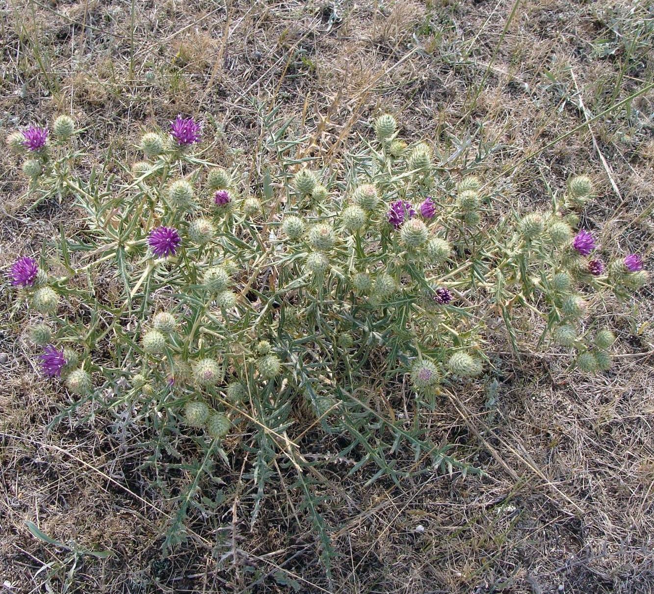
[[[129,160],[141,130],[181,111],[221,122],[215,158],[247,170],[262,133],[250,98],[295,116],[298,133],[318,131],[324,164],[391,111],[410,139],[482,156],[521,207],[546,205],[548,184],[560,190],[570,173],[591,174],[599,198],[586,223],[654,266],[654,91],[615,107],[654,79],[646,1],[9,0],[0,16],[3,134],[72,113],[87,139]],[[5,266],[75,213],[29,209],[20,163],[0,154]],[[102,159],[98,150],[90,164]],[[485,476],[366,487],[366,470],[346,477],[352,462],[334,464],[322,509],[337,551],[330,576],[283,486],[250,525],[240,467],[224,470],[218,512],[192,517],[188,540],[162,555],[175,514],[166,488],[183,476],[153,485],[138,446],[152,436],[103,411],[47,430],[67,396],[35,372],[10,292],[1,299],[8,592],[654,591],[651,287],[632,307],[606,304],[619,334],[611,372],[570,374],[555,350],[498,350],[496,394],[462,390],[424,419]],[[334,444],[304,446],[322,455]]]

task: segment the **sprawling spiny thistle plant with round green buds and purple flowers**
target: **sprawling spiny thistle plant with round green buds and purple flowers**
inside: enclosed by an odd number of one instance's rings
[[[432,468],[473,472],[419,423],[403,427],[362,398],[373,366],[388,391],[406,381],[419,419],[447,391],[492,375],[490,338],[516,350],[532,340],[515,323],[530,315],[542,328],[530,347],[549,337],[566,364],[601,373],[615,336],[594,308],[647,282],[638,254],[604,266],[600,248],[611,246],[574,228],[588,178],[570,180],[550,212],[502,216],[493,188],[444,166],[433,173],[430,144],[405,143],[390,115],[336,173],[288,157],[247,186],[202,157],[202,126],[182,116],[133,139],[139,155],[120,164],[123,177],[77,173],[83,150],[69,119],[52,137],[33,126],[7,140],[39,166],[24,167],[38,199],[68,196],[85,222],[7,270],[35,345],[26,356],[72,394],[62,415],[90,400],[127,406],[161,439],[204,444],[205,460],[226,459],[228,442],[254,453],[258,501],[280,455],[313,501],[294,442],[309,426],[345,436],[350,456],[394,481],[409,472],[387,462],[397,444],[429,452]],[[298,147],[286,128],[271,131],[271,155]],[[101,279],[115,290],[99,290]],[[486,323],[497,314],[504,333]]]

